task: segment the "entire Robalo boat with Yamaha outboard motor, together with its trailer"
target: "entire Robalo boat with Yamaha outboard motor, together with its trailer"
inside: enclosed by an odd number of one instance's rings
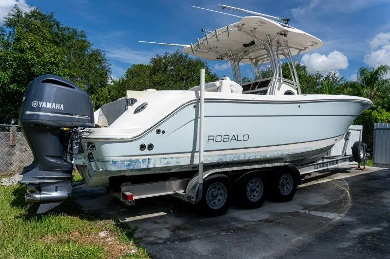
[[[280,201],[288,201],[300,173],[348,162],[351,157],[342,156],[312,163],[344,137],[371,101],[302,94],[294,65],[301,52],[322,41],[277,17],[223,7],[255,16],[239,17],[195,44],[157,44],[230,61],[232,79],[204,85],[203,77],[200,86],[182,91],[127,91],[95,112],[91,97],[64,78],[44,75],[30,82],[20,111],[35,158],[21,181],[28,184],[26,202],[40,202],[43,213],[67,199],[75,164],[87,185],[121,192],[126,202],[182,194],[220,215],[229,207],[231,184],[243,204],[259,207],[265,183]],[[282,74],[281,62],[288,64],[292,80]],[[252,82],[241,82],[240,64],[253,68]],[[271,76],[262,77],[263,66]],[[354,154],[364,154],[362,147],[359,142]],[[264,167],[273,171],[265,175]]]

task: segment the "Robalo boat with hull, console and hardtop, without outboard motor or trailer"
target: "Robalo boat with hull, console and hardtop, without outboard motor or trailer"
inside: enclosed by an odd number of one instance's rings
[[[297,56],[321,45],[321,40],[296,28],[253,16],[184,47],[199,58],[229,60],[233,68],[233,80],[225,77],[205,86],[206,168],[304,164],[318,160],[343,138],[372,103],[355,96],[301,94],[294,69]],[[281,74],[282,57],[293,81]],[[258,79],[242,83],[241,63],[251,64]],[[270,64],[273,77],[261,78],[262,63]],[[118,175],[197,170],[199,89],[188,87],[127,91],[126,98],[98,109],[95,123],[100,127],[83,135],[84,154],[78,155],[81,160],[88,154],[94,159],[93,170],[79,166],[87,184],[108,185],[109,178]]]

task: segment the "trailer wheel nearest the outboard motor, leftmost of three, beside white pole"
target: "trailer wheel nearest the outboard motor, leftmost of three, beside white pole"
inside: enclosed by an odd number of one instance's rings
[[[215,217],[226,213],[230,207],[231,184],[224,174],[216,174],[203,182],[202,198],[199,209],[202,214]]]

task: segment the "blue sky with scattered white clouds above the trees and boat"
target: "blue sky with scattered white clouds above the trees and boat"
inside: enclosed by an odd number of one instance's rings
[[[176,50],[137,40],[194,43],[203,35],[201,28],[236,22],[238,18],[191,7],[221,11],[219,3],[290,17],[290,25],[323,40],[321,48],[300,57],[309,70],[338,71],[353,79],[362,66],[390,65],[389,0],[0,0],[0,19],[14,4],[23,10],[36,6],[54,12],[59,21],[84,30],[94,46],[105,51],[118,78],[131,64],[148,63],[156,53]],[[226,62],[209,64],[218,75],[231,74]]]

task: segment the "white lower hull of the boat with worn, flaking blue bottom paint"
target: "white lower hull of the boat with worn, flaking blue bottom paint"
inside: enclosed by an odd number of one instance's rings
[[[227,168],[251,163],[288,162],[295,165],[317,161],[343,136],[306,143],[259,147],[243,150],[205,152],[205,170]],[[85,156],[85,154],[82,154]],[[86,157],[84,157],[85,159]],[[198,153],[154,155],[149,157],[113,157],[96,159],[78,166],[87,185],[108,185],[108,178],[118,175],[156,174],[198,169]],[[87,159],[85,159],[87,161]]]

